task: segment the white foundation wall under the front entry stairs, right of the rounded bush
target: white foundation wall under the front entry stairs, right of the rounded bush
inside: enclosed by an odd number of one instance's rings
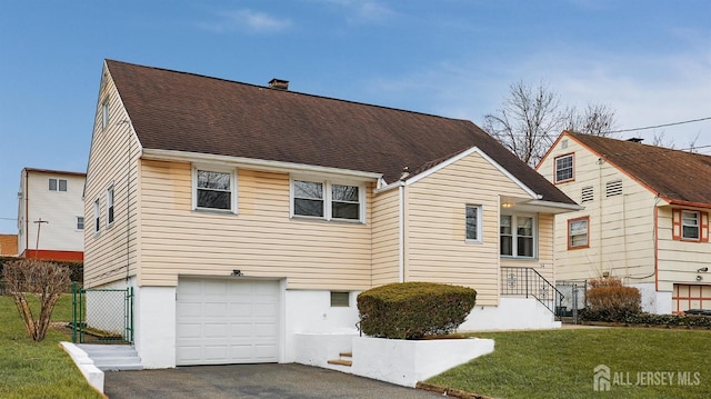
[[[475,306],[459,331],[560,328],[553,313],[534,298],[499,299],[497,307]]]

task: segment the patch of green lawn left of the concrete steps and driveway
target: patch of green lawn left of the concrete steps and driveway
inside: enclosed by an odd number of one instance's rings
[[[39,315],[36,308],[32,310]],[[71,320],[71,295],[62,296],[52,320]],[[41,342],[27,338],[12,298],[0,296],[0,398],[102,398],[59,346],[60,341],[71,341],[71,337],[52,328]]]

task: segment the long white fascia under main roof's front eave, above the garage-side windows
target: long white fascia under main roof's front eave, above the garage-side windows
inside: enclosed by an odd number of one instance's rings
[[[314,164],[292,163],[282,161],[270,161],[264,159],[242,158],[242,157],[229,157],[229,156],[216,156],[210,153],[188,152],[188,151],[173,151],[173,150],[159,150],[159,149],[143,149],[143,159],[160,160],[160,161],[184,161],[184,162],[202,162],[212,164],[224,164],[234,168],[252,168],[264,171],[273,171],[280,173],[302,172],[313,174],[327,174],[327,176],[342,176],[351,179],[359,179],[365,181],[378,181],[382,178],[381,173],[364,172],[361,170],[339,169],[320,167]]]

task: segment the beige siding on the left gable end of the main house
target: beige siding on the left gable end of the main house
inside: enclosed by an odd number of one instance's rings
[[[109,99],[109,124],[101,127],[101,104]],[[140,147],[111,79],[97,104],[84,194],[84,286],[97,287],[138,272],[138,157]],[[114,189],[114,222],[107,227],[107,197]],[[94,233],[96,199],[100,231]]]

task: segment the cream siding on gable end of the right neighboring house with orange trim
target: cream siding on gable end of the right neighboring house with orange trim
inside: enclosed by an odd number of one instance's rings
[[[557,187],[585,209],[555,216],[555,278],[583,280],[609,272],[629,283],[653,282],[654,194],[572,139],[567,149],[559,142],[539,172],[552,181],[553,159],[571,152],[575,179]],[[605,183],[612,180],[622,180],[622,194],[605,197]],[[592,187],[592,201],[581,202],[583,187]],[[590,217],[590,247],[568,249],[568,220],[581,217]]]

